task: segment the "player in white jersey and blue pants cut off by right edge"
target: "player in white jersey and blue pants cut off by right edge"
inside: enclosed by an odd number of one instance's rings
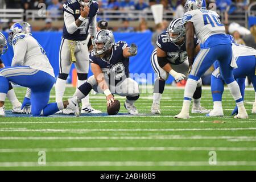
[[[251,47],[238,45],[234,41],[232,35],[229,35],[230,40],[232,40],[232,51],[234,54],[234,58],[237,61],[238,68],[234,69],[234,78],[237,80],[238,85],[240,86],[240,91],[242,98],[245,96],[245,77],[248,76],[251,78],[251,82],[253,83],[253,87],[256,93],[256,50]],[[218,61],[215,61],[214,67],[215,71],[212,73],[211,77],[211,89],[212,89],[212,98],[213,98],[213,110],[210,111],[207,116],[209,117],[218,117],[223,116],[222,109],[222,93],[224,92],[224,80],[220,75],[220,67],[218,65]],[[256,96],[256,94],[255,94]],[[256,97],[255,97],[256,99]],[[237,114],[238,109],[237,106],[232,112],[233,114]],[[256,113],[256,100],[253,104],[253,110],[251,113]]]

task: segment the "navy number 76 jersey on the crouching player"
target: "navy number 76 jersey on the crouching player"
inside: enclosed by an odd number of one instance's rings
[[[199,40],[195,38],[195,47],[198,44]],[[181,64],[188,57],[185,41],[180,46],[177,46],[175,43],[170,42],[167,32],[163,32],[158,36],[158,40],[156,40],[156,45],[164,52],[166,52],[166,59],[170,62],[170,64]]]

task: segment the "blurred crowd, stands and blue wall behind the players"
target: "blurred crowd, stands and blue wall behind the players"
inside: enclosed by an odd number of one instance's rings
[[[46,49],[55,75],[59,71],[59,47],[64,23],[63,2],[65,0],[0,0],[0,31],[7,36],[14,22],[26,20],[30,23],[33,35]],[[130,72],[154,73],[150,65],[150,55],[156,47],[155,40],[158,34],[166,30],[172,19],[183,16],[185,1],[99,0],[97,2],[100,6],[97,19],[109,21],[109,28],[114,32],[115,40],[138,44],[138,55],[131,59]],[[150,8],[156,4],[162,4],[164,7],[163,22],[157,24]],[[256,48],[255,0],[207,0],[207,5],[218,11],[226,32],[232,34],[237,43]],[[12,51],[2,56],[6,65],[10,65],[12,56]],[[212,71],[209,69],[205,73],[204,85],[210,84]],[[148,79],[138,81],[145,83]],[[170,84],[172,81],[173,78],[170,77],[167,83]],[[72,71],[68,82],[72,82]],[[249,85],[250,81],[246,84]]]

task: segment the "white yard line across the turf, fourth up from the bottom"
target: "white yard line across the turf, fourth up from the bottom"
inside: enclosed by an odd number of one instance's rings
[[[205,129],[26,129],[1,128],[1,132],[49,132],[49,133],[86,133],[93,131],[230,131],[230,130],[256,130],[256,127],[240,128],[205,128]]]

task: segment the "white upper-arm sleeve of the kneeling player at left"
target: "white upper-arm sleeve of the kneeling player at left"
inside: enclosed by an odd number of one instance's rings
[[[16,44],[13,47],[14,49],[14,56],[13,56],[13,61],[11,62],[11,66],[17,66],[17,65],[22,65],[24,61],[24,57],[27,52],[27,43],[25,40],[18,40]]]

